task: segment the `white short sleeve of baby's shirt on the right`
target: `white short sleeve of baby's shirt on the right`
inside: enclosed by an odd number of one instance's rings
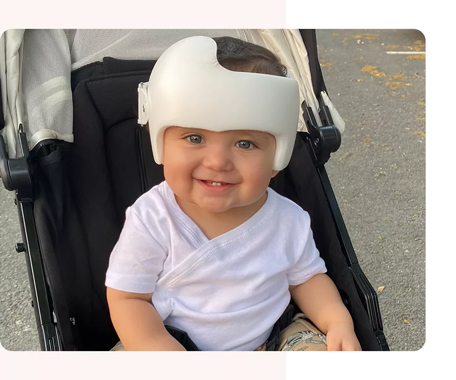
[[[320,257],[320,252],[315,245],[312,229],[307,226],[307,237],[303,237],[305,243],[302,247],[298,260],[292,268],[287,272],[289,285],[299,285],[310,280],[315,275],[326,273],[326,265]]]

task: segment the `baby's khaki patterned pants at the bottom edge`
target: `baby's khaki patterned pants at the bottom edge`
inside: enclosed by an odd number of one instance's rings
[[[254,351],[265,351],[266,344],[262,344]],[[121,342],[111,351],[126,351]],[[293,317],[289,326],[280,331],[279,347],[277,351],[290,352],[323,352],[327,351],[326,336],[306,319],[302,313]]]

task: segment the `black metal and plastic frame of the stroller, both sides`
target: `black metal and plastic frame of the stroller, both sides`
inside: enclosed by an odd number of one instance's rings
[[[373,327],[375,337],[381,351],[389,352],[388,343],[383,332],[377,294],[359,265],[347,227],[337,205],[324,167],[330,158],[330,154],[339,148],[341,136],[338,129],[334,127],[329,108],[324,104],[320,95],[322,91],[326,91],[326,88],[318,63],[315,29],[299,29],[299,31],[309,53],[312,84],[320,106],[319,117],[322,126],[318,126],[313,109],[306,102],[303,102],[301,108],[308,132],[297,132],[297,134],[311,154],[330,207],[341,250],[347,260],[358,294]],[[4,124],[1,122],[0,126]],[[20,154],[16,158],[8,158],[4,138],[0,135],[0,177],[2,177],[5,188],[15,192],[14,203],[17,207],[22,235],[22,242],[17,243],[15,248],[18,253],[25,254],[32,306],[34,308],[41,350],[62,351],[61,334],[55,314],[53,313],[52,296],[46,280],[43,255],[34,220],[32,174],[29,164],[31,155],[22,125],[19,126],[18,130],[18,141]],[[42,141],[35,149],[52,143],[54,143],[53,140]]]

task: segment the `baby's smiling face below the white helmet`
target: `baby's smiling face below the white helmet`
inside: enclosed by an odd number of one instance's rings
[[[251,205],[277,174],[275,147],[275,137],[265,132],[169,127],[164,135],[165,178],[181,201],[207,211]]]

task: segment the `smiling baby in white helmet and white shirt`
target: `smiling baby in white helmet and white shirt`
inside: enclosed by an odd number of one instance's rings
[[[292,298],[320,331],[302,323],[285,338],[306,331],[327,351],[360,351],[309,214],[268,187],[290,160],[299,113],[279,59],[231,37],[190,37],[138,91],[166,180],[127,209],[110,256],[116,350],[184,351],[166,324],[202,351],[261,351]]]

